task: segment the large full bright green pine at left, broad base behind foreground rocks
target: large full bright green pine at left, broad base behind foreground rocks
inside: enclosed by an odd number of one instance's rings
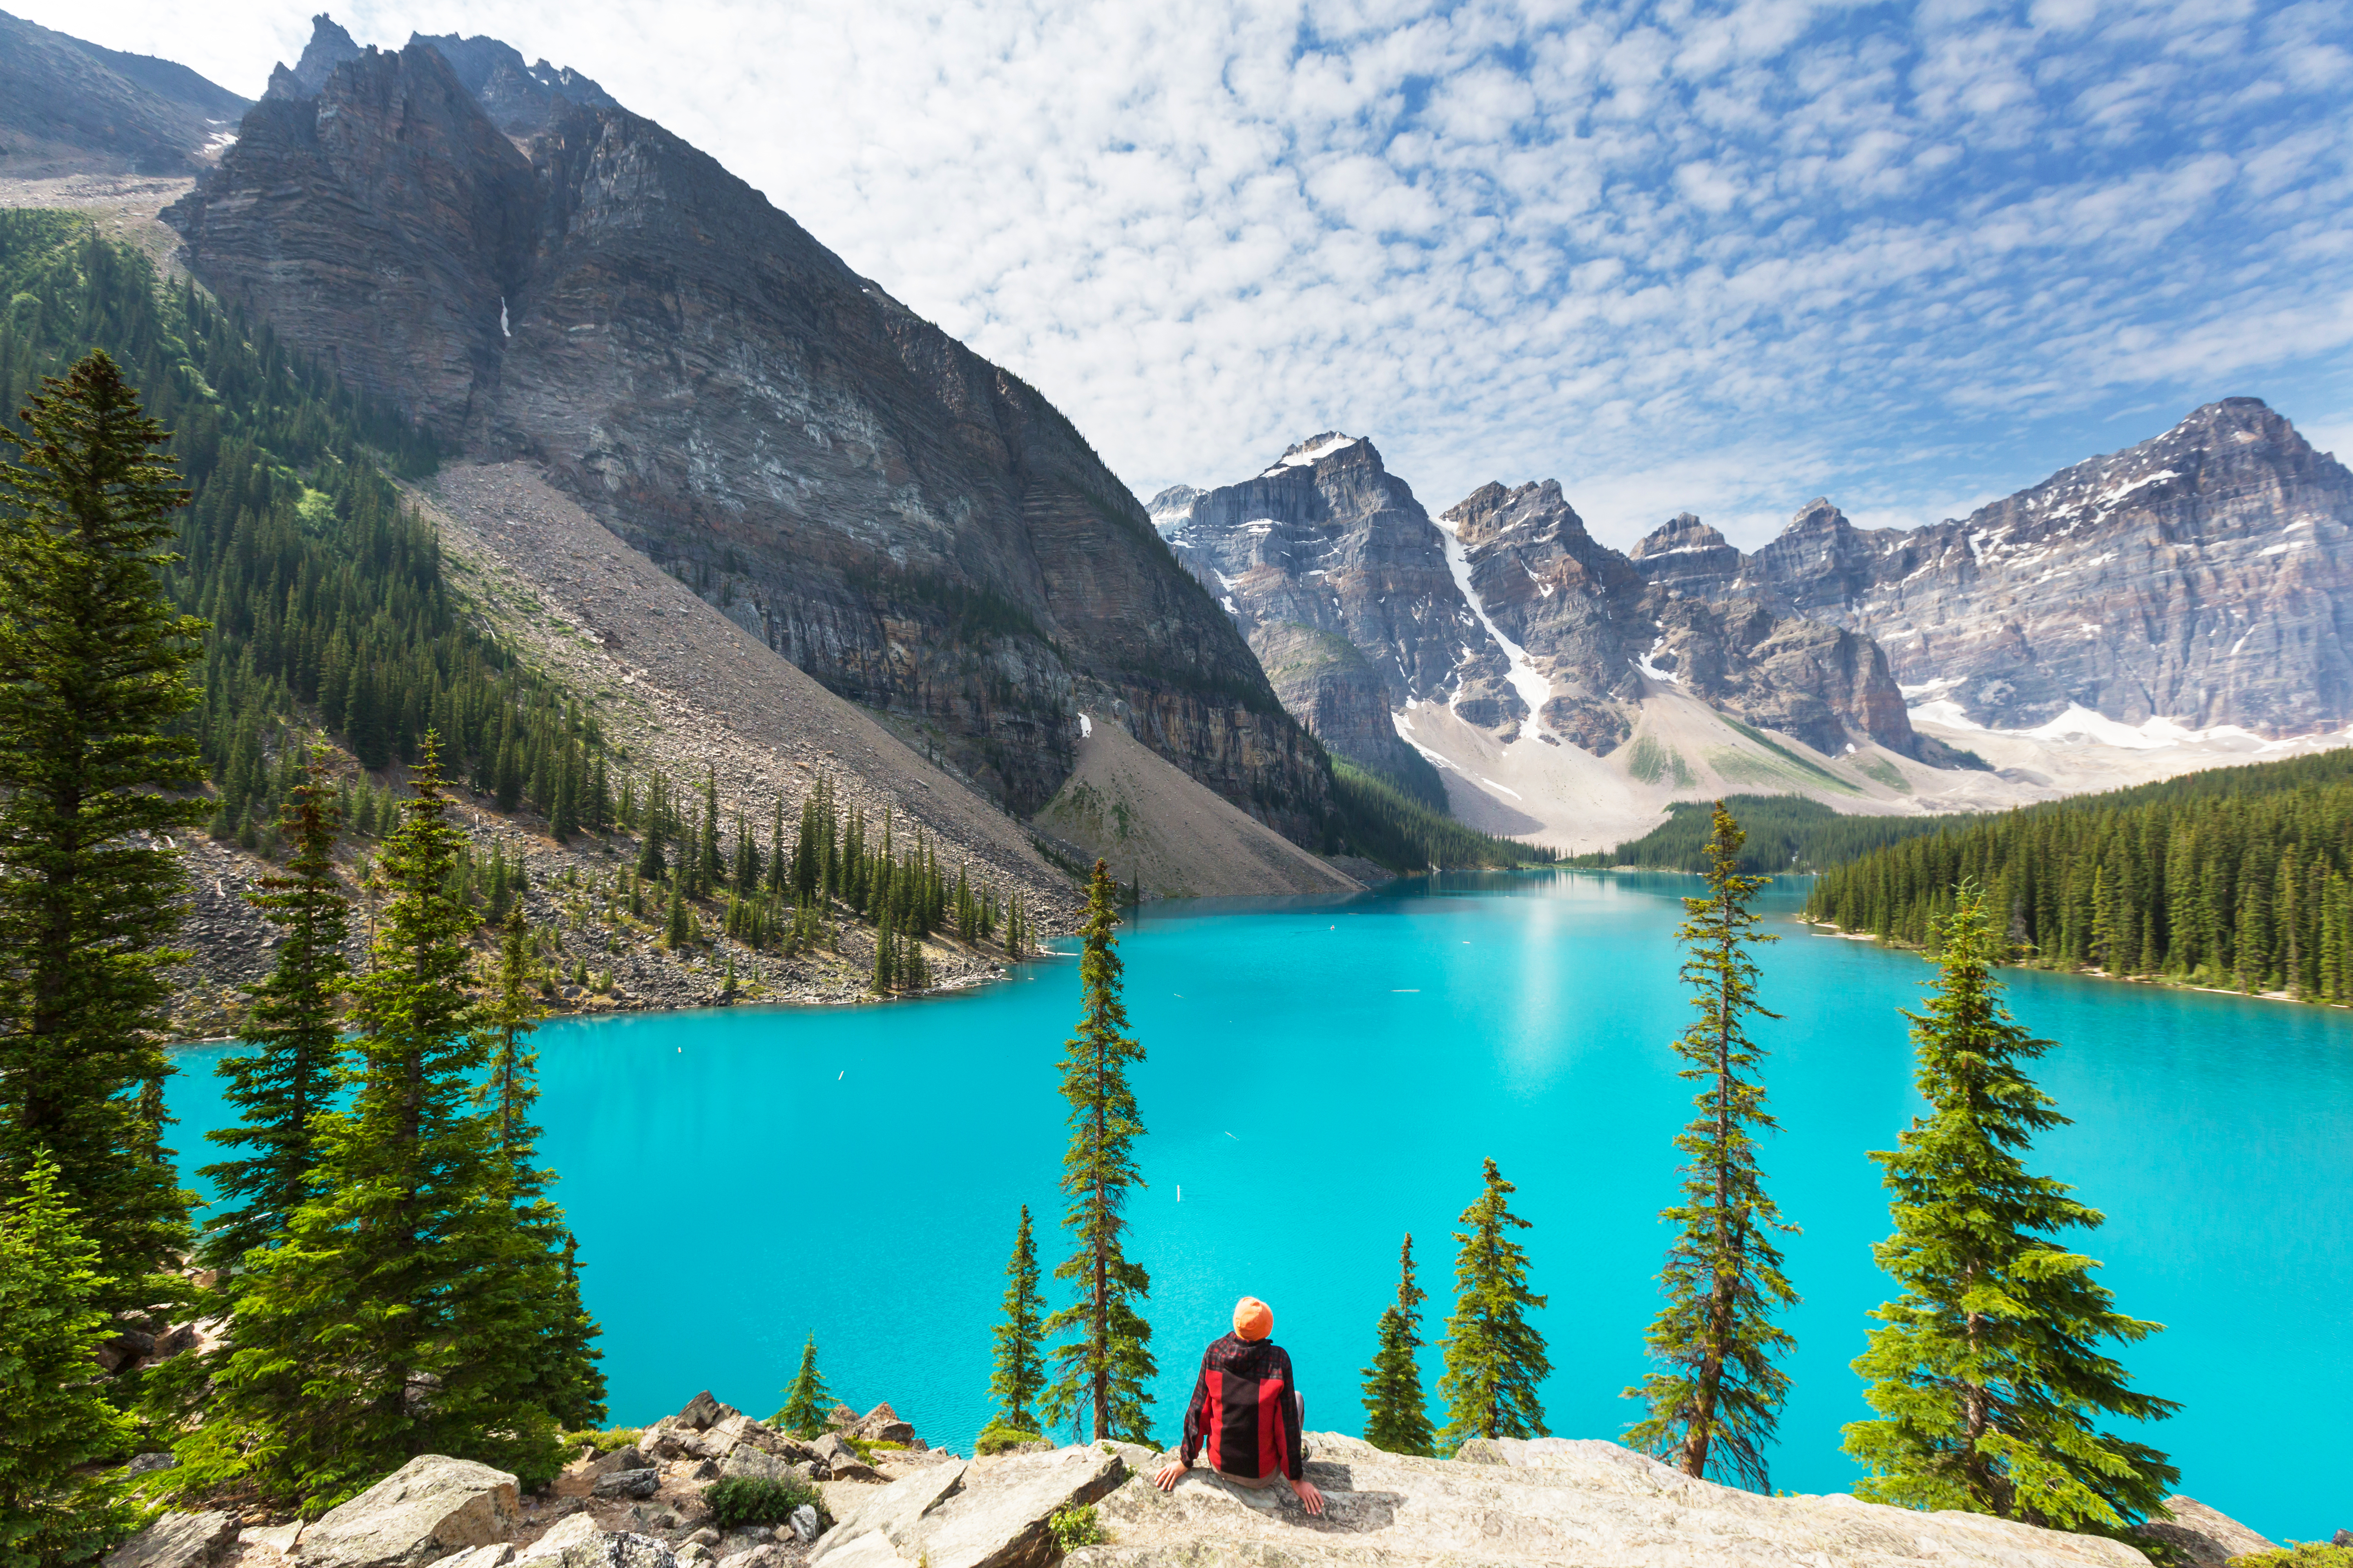
[[[355,1086],[318,1117],[320,1197],[247,1255],[235,1349],[205,1422],[179,1443],[179,1488],[247,1486],[304,1507],[353,1495],[416,1453],[555,1474],[555,1425],[527,1399],[541,1371],[499,1338],[513,1272],[511,1187],[485,1117],[464,835],[428,733],[400,827],[376,858],[388,898],[353,976]]]

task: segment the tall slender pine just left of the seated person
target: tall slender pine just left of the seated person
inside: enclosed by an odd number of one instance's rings
[[[1127,1037],[1127,1006],[1120,1001],[1115,903],[1111,870],[1096,860],[1080,926],[1082,1016],[1061,1058],[1061,1098],[1071,1105],[1071,1147],[1061,1159],[1061,1190],[1071,1201],[1061,1222],[1078,1251],[1054,1269],[1054,1279],[1073,1281],[1080,1298],[1045,1324],[1049,1335],[1075,1335],[1054,1349],[1056,1375],[1045,1392],[1045,1418],[1092,1415],[1096,1441],[1148,1443],[1144,1399],[1158,1368],[1148,1349],[1153,1331],[1136,1305],[1153,1284],[1122,1246],[1127,1190],[1144,1185],[1134,1154],[1144,1121],[1127,1084],[1144,1046]]]

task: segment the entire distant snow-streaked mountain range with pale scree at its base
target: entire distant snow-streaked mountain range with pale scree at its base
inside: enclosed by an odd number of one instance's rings
[[[2252,397],[1960,522],[1812,501],[1755,555],[1689,512],[1612,550],[1553,480],[1431,520],[1339,433],[1151,512],[1325,745],[1421,792],[1438,764],[1494,830],[1591,842],[1741,788],[2005,804],[2080,780],[1986,778],[1977,745],[2247,752],[2353,719],[2353,475]]]

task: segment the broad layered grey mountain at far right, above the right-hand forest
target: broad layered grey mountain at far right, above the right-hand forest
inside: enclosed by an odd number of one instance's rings
[[[1812,501],[1692,592],[1873,637],[1920,701],[1988,729],[2294,736],[2353,719],[2353,475],[2254,397],[1927,529]]]

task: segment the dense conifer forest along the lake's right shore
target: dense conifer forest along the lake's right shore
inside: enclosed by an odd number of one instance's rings
[[[1962,882],[2005,961],[2353,1001],[2353,752],[1974,818],[1826,872],[1805,914],[1934,947]]]

